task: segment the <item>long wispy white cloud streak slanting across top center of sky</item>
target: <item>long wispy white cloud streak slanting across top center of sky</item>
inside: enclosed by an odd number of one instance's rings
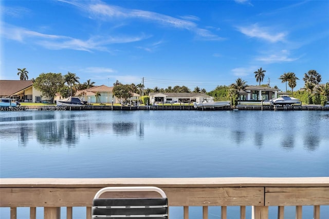
[[[126,9],[119,6],[108,5],[100,1],[91,2],[71,2],[62,1],[79,7],[88,13],[89,17],[101,19],[104,21],[113,20],[140,20],[144,22],[154,22],[159,25],[168,26],[177,29],[185,29],[195,33],[198,40],[223,40],[220,36],[212,33],[209,30],[199,28],[193,21],[198,21],[199,18],[193,15],[180,16],[180,18],[160,14],[152,11]]]

